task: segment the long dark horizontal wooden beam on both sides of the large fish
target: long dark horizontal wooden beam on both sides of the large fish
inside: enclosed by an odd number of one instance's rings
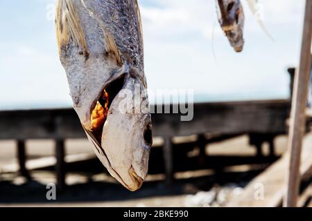
[[[153,108],[152,108],[153,109]],[[155,108],[154,108],[155,109]],[[152,114],[153,135],[187,136],[203,133],[286,134],[288,100],[194,104],[193,120],[180,114]],[[85,137],[73,109],[0,111],[0,140],[71,139]]]

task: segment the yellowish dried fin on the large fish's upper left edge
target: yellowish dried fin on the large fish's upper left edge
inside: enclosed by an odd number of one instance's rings
[[[85,32],[73,7],[72,0],[57,1],[55,24],[59,51],[61,51],[62,46],[68,44],[69,39],[73,39],[79,47],[87,52]]]

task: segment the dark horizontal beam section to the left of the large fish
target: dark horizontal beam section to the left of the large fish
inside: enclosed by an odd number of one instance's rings
[[[85,137],[73,109],[0,112],[0,140]]]

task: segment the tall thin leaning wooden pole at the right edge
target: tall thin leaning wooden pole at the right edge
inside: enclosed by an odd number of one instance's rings
[[[300,186],[300,158],[302,138],[306,125],[306,102],[308,99],[311,72],[311,37],[312,37],[312,1],[306,0],[304,12],[304,30],[300,54],[300,67],[295,75],[291,121],[289,127],[288,153],[290,154],[289,171],[287,174],[287,191],[284,206],[297,206]]]

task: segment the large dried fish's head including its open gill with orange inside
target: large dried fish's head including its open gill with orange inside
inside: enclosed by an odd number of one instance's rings
[[[127,189],[136,191],[148,172],[153,136],[146,88],[134,77],[135,71],[130,72],[105,87],[91,105],[91,121],[83,127],[107,170]]]

